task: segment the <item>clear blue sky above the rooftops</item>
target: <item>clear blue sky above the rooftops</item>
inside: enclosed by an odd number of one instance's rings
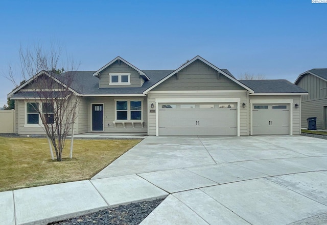
[[[141,70],[176,69],[200,55],[236,77],[291,82],[327,68],[327,4],[311,0],[2,0],[0,28],[0,107],[14,88],[9,65],[20,70],[20,45],[36,43],[59,43],[79,70],[117,55]]]

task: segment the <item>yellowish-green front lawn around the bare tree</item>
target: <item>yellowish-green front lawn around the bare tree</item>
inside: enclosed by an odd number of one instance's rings
[[[57,162],[51,160],[45,138],[0,137],[0,191],[90,179],[139,142],[74,139],[69,159],[68,140],[63,161]]]

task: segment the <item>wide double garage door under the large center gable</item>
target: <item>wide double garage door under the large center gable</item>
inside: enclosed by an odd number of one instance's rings
[[[237,103],[160,103],[159,135],[237,135]]]

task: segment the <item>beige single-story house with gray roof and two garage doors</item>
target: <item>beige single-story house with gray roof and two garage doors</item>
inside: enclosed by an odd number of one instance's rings
[[[32,80],[8,94],[18,134],[43,133],[40,120],[27,120]],[[80,98],[75,133],[148,135],[300,134],[298,106],[308,94],[287,80],[237,80],[199,56],[176,70],[139,70],[116,57],[77,71],[71,89]]]

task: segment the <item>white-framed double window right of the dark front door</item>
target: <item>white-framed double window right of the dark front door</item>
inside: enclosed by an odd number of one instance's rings
[[[142,99],[116,99],[115,120],[116,121],[141,121],[143,120]]]

